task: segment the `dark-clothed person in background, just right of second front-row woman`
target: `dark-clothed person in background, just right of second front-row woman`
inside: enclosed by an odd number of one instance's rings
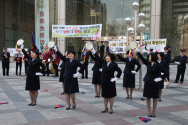
[[[89,60],[89,53],[86,52],[85,61],[82,60],[82,63],[83,63],[83,65],[84,65],[84,70],[83,70],[83,72],[82,72],[82,77],[81,77],[81,79],[84,79],[84,78],[88,79],[88,60]],[[85,71],[85,77],[84,77],[84,71]]]

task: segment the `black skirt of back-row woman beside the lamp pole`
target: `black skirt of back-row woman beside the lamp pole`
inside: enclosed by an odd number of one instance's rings
[[[126,75],[123,76],[123,87],[125,88],[135,88],[135,75]]]

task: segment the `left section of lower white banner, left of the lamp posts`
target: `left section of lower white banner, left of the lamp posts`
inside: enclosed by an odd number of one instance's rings
[[[110,52],[115,47],[115,53],[126,53],[126,44],[126,41],[109,41]]]

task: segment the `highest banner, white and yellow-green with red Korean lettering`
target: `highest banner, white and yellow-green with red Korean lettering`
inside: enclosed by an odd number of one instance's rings
[[[52,25],[52,37],[101,37],[102,24]]]

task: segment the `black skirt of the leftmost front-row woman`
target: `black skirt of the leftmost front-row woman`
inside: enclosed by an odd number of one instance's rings
[[[25,90],[39,90],[40,79],[39,76],[27,75]]]

